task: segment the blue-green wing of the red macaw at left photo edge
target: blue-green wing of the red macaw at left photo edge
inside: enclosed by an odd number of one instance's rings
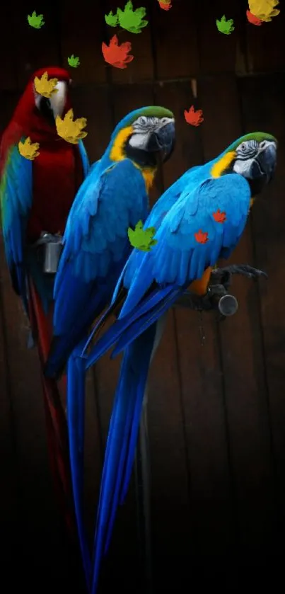
[[[24,139],[22,139],[24,142]],[[33,201],[33,161],[25,159],[13,146],[8,152],[0,183],[1,219],[6,261],[13,288],[27,307],[24,238]]]

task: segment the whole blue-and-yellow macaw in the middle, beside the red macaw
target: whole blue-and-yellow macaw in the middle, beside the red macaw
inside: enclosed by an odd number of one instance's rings
[[[128,228],[146,219],[156,169],[170,158],[174,144],[174,115],[158,105],[136,109],[117,124],[71,207],[54,283],[53,338],[45,375],[58,377],[67,365],[71,479],[87,584],[91,558],[83,524],[85,370],[80,355],[132,251]]]

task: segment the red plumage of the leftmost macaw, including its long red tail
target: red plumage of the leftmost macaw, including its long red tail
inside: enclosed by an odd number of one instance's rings
[[[47,72],[49,78],[69,82],[67,70],[47,67],[31,76],[16,106],[11,122],[6,127],[0,147],[0,176],[3,173],[8,150],[18,144],[21,137],[30,137],[40,143],[40,155],[33,161],[33,206],[28,220],[28,243],[36,241],[41,232],[64,233],[66,219],[76,192],[83,181],[83,166],[77,145],[69,144],[57,135],[55,125],[42,117],[35,106],[33,81]],[[71,108],[68,93],[64,113]],[[42,309],[33,280],[28,279],[30,324],[37,341],[41,369],[45,365],[52,337],[52,311],[46,316]],[[72,537],[76,535],[76,522],[72,500],[69,470],[69,447],[66,416],[59,387],[42,372],[42,387],[47,419],[48,447],[54,484],[64,511],[66,524]]]

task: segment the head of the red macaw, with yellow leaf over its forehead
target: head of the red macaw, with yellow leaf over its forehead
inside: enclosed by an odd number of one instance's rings
[[[50,98],[37,93],[35,89],[35,76],[38,79],[47,72],[48,79],[57,79],[57,93]],[[69,72],[58,66],[40,68],[30,77],[25,91],[13,114],[13,121],[21,126],[25,134],[30,135],[34,140],[40,137],[48,139],[57,134],[55,118],[57,115],[63,117],[71,108],[69,98],[70,85]]]

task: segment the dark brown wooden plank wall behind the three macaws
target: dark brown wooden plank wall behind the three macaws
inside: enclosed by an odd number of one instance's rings
[[[255,27],[246,21],[246,1],[173,0],[165,12],[156,0],[135,0],[135,6],[146,6],[150,22],[141,35],[120,31],[120,41],[132,41],[135,58],[118,70],[105,64],[100,49],[114,33],[103,15],[117,4],[42,0],[22,2],[17,10],[11,3],[1,7],[0,125],[6,126],[35,68],[66,65],[73,53],[81,59],[81,66],[71,69],[73,101],[76,116],[88,119],[91,161],[129,110],[153,103],[174,110],[177,148],[153,200],[183,171],[216,156],[243,132],[264,130],[279,139],[277,176],[255,205],[232,258],[264,268],[269,281],[235,280],[238,314],[220,325],[205,315],[203,347],[197,314],[170,312],[149,394],[155,591],[214,586],[228,592],[238,578],[243,588],[249,579],[257,586],[277,576],[285,537],[284,11]],[[35,9],[45,15],[42,30],[26,23]],[[216,29],[224,13],[235,21],[229,36]],[[192,103],[204,111],[199,128],[184,120]],[[30,591],[48,586],[57,593],[71,588],[73,569],[47,464],[37,355],[26,349],[28,324],[11,291],[3,250],[0,257],[4,573],[11,588],[18,577]],[[118,360],[105,358],[88,375],[90,533],[118,366]],[[118,515],[104,592],[110,576],[117,588],[139,591],[137,552],[131,488]]]

